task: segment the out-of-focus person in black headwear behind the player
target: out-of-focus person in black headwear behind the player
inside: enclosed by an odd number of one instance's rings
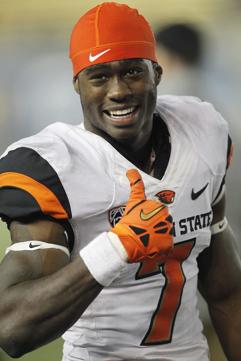
[[[157,30],[155,39],[156,57],[163,68],[158,95],[193,95],[203,99],[199,69],[201,33],[191,25],[170,24]]]

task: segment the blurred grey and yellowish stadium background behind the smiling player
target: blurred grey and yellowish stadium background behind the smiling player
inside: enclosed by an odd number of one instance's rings
[[[122,3],[122,1],[119,1]],[[82,122],[72,86],[69,39],[73,26],[100,1],[0,1],[0,154],[48,124]],[[227,218],[240,244],[241,214],[241,1],[129,0],[151,24],[163,67],[159,94],[210,101],[229,123],[234,154],[226,177]],[[178,26],[177,26],[178,25]],[[116,20],[118,26],[118,19]],[[10,243],[0,222],[0,260]],[[211,361],[227,361],[201,296],[198,306]],[[21,357],[60,361],[61,339]],[[12,360],[0,350],[0,361]]]

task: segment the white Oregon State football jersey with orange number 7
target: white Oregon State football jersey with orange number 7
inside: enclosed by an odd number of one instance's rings
[[[211,104],[194,97],[160,96],[155,112],[168,127],[171,156],[161,180],[138,170],[147,199],[168,205],[174,251],[126,264],[63,335],[63,361],[209,359],[196,308],[197,257],[210,244],[211,204],[226,170],[228,126]],[[35,197],[34,212],[69,219],[73,260],[119,221],[130,195],[126,171],[136,167],[83,124],[54,123],[14,143],[2,157],[26,149],[29,158],[48,169],[35,178],[46,193]],[[25,177],[31,179],[30,172]]]

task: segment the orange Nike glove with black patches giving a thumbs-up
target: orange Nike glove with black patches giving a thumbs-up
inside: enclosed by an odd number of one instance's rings
[[[109,230],[117,234],[130,263],[138,263],[173,251],[172,216],[163,203],[146,200],[139,172],[126,172],[130,197],[120,221]]]

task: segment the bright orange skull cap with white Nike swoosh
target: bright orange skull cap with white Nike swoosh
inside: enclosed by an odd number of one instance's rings
[[[74,77],[94,64],[131,58],[158,62],[150,24],[126,4],[102,3],[83,15],[70,38]]]

